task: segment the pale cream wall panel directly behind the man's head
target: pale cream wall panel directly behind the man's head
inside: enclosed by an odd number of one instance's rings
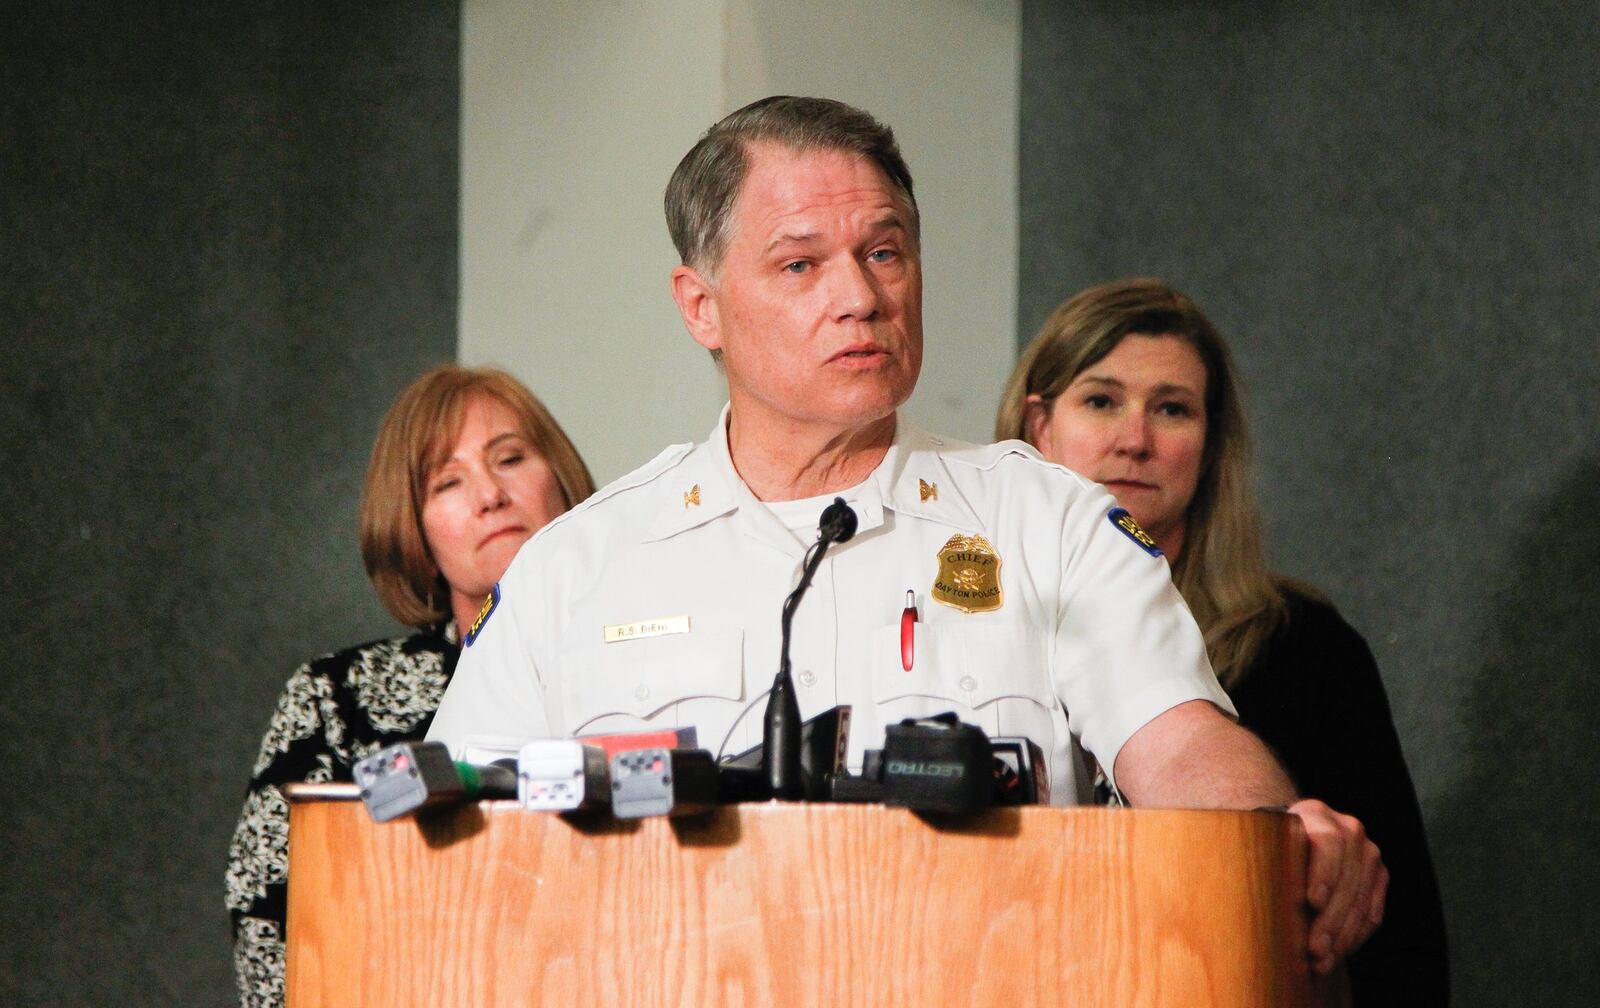
[[[909,410],[987,440],[1016,326],[1016,0],[462,11],[461,357],[523,378],[597,480],[704,438],[726,398],[672,304],[661,195],[707,126],[766,94],[894,128],[926,248]]]

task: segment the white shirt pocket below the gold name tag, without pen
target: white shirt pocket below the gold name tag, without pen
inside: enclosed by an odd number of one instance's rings
[[[744,635],[738,632],[589,645],[558,661],[568,734],[627,731],[685,701],[744,698]]]

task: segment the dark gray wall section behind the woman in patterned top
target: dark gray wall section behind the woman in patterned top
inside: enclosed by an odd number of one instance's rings
[[[454,357],[453,3],[0,13],[0,1003],[221,1005],[274,698]]]

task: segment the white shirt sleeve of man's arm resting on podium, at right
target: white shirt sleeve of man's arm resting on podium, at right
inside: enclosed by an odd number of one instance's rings
[[[1117,754],[1178,704],[1235,715],[1171,570],[1104,490],[1075,494],[1061,547],[1054,685],[1067,723],[1115,784]]]

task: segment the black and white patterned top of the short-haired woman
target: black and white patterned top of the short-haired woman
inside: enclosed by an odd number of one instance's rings
[[[234,973],[245,1008],[283,1005],[290,810],[283,784],[349,781],[350,766],[421,739],[456,670],[454,627],[325,654],[290,677],[251,768],[227,850]]]

